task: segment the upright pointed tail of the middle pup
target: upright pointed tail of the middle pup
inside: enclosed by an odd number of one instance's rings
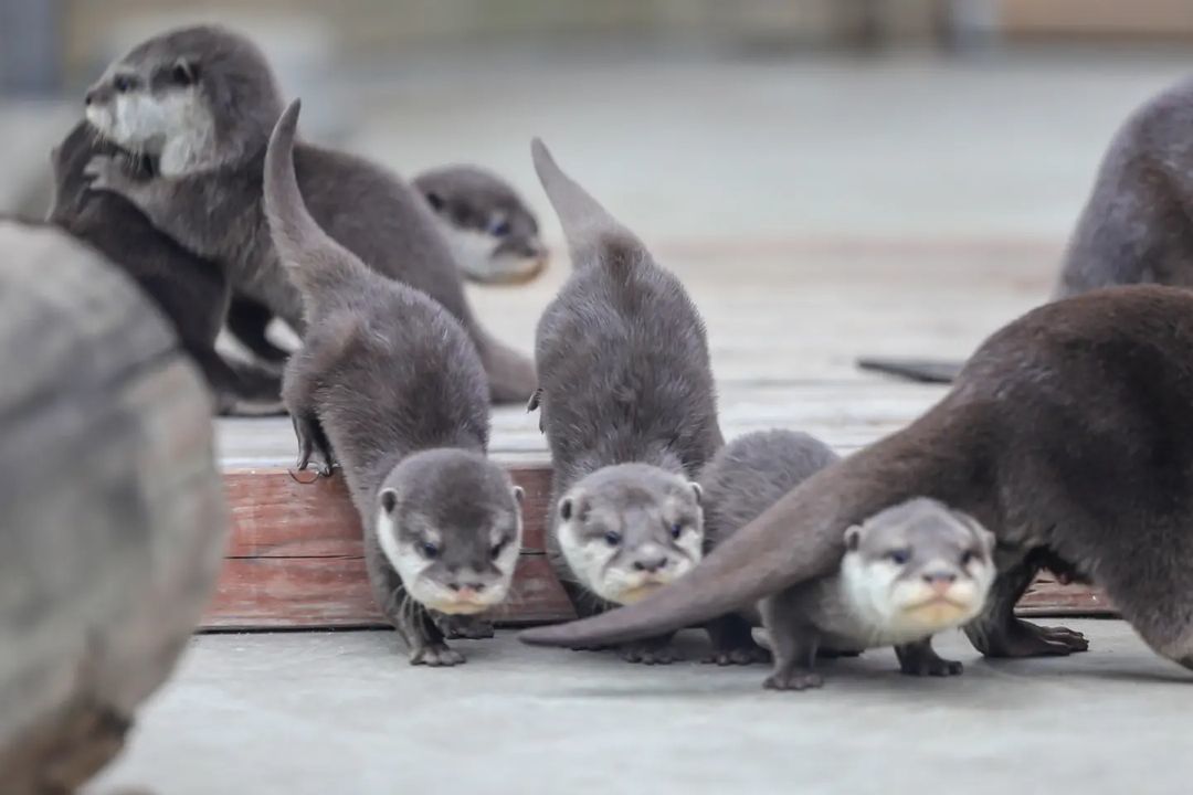
[[[650,256],[633,232],[556,164],[546,144],[534,138],[530,150],[538,181],[563,226],[573,267],[594,262],[614,268],[632,267]]]

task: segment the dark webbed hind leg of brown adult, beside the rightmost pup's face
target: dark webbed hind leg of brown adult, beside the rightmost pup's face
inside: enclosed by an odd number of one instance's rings
[[[1015,604],[1034,579],[1037,566],[1022,561],[999,574],[982,615],[965,627],[973,647],[987,657],[1046,657],[1089,648],[1080,632],[1040,627],[1015,617]]]

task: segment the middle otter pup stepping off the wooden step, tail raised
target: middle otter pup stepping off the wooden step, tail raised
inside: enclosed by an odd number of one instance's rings
[[[538,323],[530,408],[551,451],[549,549],[583,614],[643,598],[700,560],[692,478],[723,440],[704,323],[684,286],[540,141],[532,153],[575,272]],[[669,663],[670,634],[623,656]]]

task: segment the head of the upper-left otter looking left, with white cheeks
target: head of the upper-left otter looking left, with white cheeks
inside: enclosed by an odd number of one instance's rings
[[[184,27],[135,46],[85,98],[87,122],[165,175],[264,151],[282,100],[261,51],[215,25]]]

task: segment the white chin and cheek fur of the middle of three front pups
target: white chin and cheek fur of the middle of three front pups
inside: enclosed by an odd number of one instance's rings
[[[688,538],[691,536],[691,538]],[[608,546],[601,539],[581,542],[576,538],[571,522],[562,522],[558,530],[560,549],[568,563],[568,569],[576,576],[580,584],[606,602],[632,604],[639,602],[663,585],[674,582],[690,572],[700,560],[700,538],[697,533],[685,533],[678,542],[690,558],[668,554],[670,563],[662,572],[648,574],[622,566],[607,566],[617,554],[617,548]],[[692,549],[694,545],[694,551]],[[662,551],[643,551],[644,557],[661,554]]]

